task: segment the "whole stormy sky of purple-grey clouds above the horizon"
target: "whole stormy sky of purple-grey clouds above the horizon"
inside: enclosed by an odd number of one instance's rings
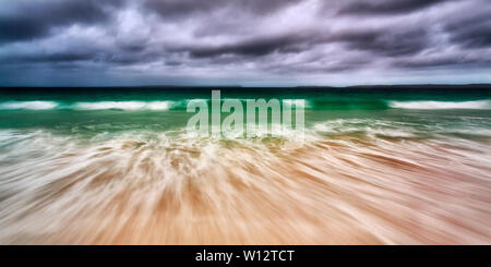
[[[0,0],[0,86],[491,83],[489,0]]]

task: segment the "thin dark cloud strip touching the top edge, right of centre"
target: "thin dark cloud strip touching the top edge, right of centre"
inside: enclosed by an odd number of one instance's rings
[[[402,14],[421,10],[438,3],[455,0],[361,0],[351,1],[339,10],[339,14]]]

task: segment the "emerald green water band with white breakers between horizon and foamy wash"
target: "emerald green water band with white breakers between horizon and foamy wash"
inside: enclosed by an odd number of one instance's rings
[[[487,134],[491,129],[491,90],[481,87],[1,89],[0,129],[85,135],[129,130],[173,131],[184,128],[193,116],[185,112],[188,102],[209,101],[212,89],[220,89],[221,99],[241,99],[243,104],[246,99],[260,98],[303,99],[308,129],[335,120],[345,120],[344,126],[355,133],[362,133],[374,120],[395,123],[391,125],[394,129],[403,123],[421,136],[433,132],[472,136]],[[357,119],[361,121],[354,124]]]

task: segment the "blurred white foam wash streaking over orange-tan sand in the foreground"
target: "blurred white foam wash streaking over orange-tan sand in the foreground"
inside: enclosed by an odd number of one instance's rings
[[[491,139],[2,133],[2,244],[482,244]]]

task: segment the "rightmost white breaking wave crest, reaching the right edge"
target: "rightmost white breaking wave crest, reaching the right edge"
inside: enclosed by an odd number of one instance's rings
[[[398,109],[491,109],[491,100],[476,101],[390,101]]]

